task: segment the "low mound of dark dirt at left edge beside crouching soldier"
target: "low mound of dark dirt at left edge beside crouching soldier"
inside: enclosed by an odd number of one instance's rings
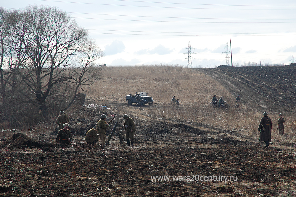
[[[28,147],[36,147],[36,148],[44,148],[44,147],[54,147],[54,144],[36,141],[32,138],[29,138],[23,133],[14,133],[11,138],[4,141],[3,144],[0,145],[0,149],[15,149],[15,148],[28,148]]]

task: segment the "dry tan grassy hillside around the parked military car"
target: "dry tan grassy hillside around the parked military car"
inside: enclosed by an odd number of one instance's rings
[[[229,130],[239,129],[257,136],[258,123],[264,111],[252,102],[244,102],[244,98],[240,109],[235,109],[236,95],[230,93],[225,84],[222,85],[209,75],[209,70],[205,72],[205,69],[179,66],[106,67],[102,71],[102,79],[89,89],[87,97],[95,99],[99,105],[122,103],[126,108],[121,113],[133,114],[139,122],[197,122]],[[145,110],[136,110],[135,106],[128,107],[125,96],[140,91],[146,91],[152,96],[154,105],[145,106]],[[214,94],[217,97],[223,96],[231,109],[214,110],[209,104]],[[173,96],[180,99],[181,107],[178,109],[170,104]],[[264,110],[268,111],[268,108]],[[269,117],[274,124],[272,136],[276,141],[293,141],[296,131],[295,115],[283,115],[286,119],[284,137],[279,136],[276,131],[278,113],[270,113]]]

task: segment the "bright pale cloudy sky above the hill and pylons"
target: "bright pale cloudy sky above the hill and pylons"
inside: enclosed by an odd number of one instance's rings
[[[10,0],[8,9],[49,5],[71,14],[105,51],[107,66],[255,62],[290,64],[296,55],[296,1]],[[226,45],[229,48],[227,50]],[[185,53],[185,54],[184,54]]]

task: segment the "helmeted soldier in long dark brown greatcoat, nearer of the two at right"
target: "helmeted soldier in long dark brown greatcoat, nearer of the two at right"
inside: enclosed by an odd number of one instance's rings
[[[271,141],[271,126],[271,118],[268,117],[267,112],[264,112],[258,127],[258,131],[260,131],[259,141],[265,142],[264,148],[267,148]]]

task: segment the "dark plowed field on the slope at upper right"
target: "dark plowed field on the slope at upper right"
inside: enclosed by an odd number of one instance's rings
[[[294,111],[295,66],[250,66],[199,69],[221,82],[246,105],[268,111]]]

